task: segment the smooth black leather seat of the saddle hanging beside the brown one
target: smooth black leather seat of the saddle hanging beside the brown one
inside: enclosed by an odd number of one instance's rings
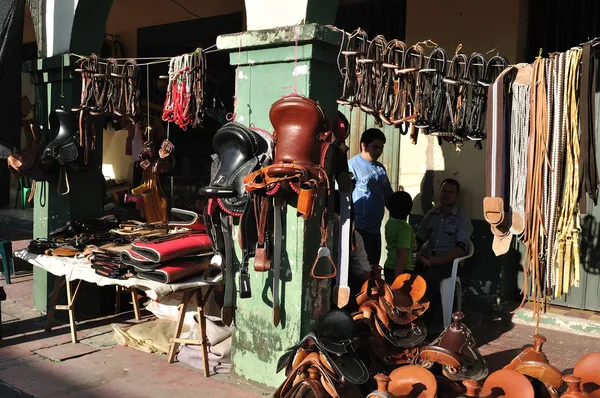
[[[230,122],[212,140],[217,170],[210,184],[200,188],[208,197],[231,198],[245,193],[244,177],[256,167],[260,137],[246,126]]]

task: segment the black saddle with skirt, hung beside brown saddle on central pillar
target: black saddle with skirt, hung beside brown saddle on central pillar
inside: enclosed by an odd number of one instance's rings
[[[218,198],[219,205],[230,214],[241,216],[248,194],[244,189],[244,177],[257,170],[270,155],[271,140],[266,134],[255,132],[246,126],[230,122],[213,137],[213,172],[208,186],[200,188],[200,194]]]

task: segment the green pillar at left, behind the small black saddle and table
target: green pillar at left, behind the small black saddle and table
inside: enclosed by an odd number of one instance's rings
[[[68,55],[57,55],[51,58],[38,59],[26,64],[36,86],[35,120],[36,123],[48,126],[49,113],[61,106],[66,110],[79,104],[80,80],[73,79]],[[101,125],[98,126],[102,131]],[[35,238],[47,238],[52,230],[65,225],[69,220],[80,220],[102,215],[103,181],[102,177],[102,134],[96,138],[96,150],[90,151],[87,170],[84,172],[68,171],[70,193],[60,195],[57,183],[37,182],[34,198],[33,235]],[[80,156],[82,151],[80,151]],[[54,286],[54,277],[38,267],[33,269],[34,306],[45,312],[48,295]],[[78,299],[84,304],[88,295],[87,289]],[[84,306],[78,311],[86,312]],[[91,311],[97,313],[98,311]],[[60,312],[58,313],[60,314]],[[57,316],[58,316],[57,314]],[[99,315],[99,314],[98,314]]]

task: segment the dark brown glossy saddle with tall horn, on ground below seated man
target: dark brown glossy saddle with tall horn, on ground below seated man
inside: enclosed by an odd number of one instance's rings
[[[417,362],[426,368],[439,363],[443,374],[453,381],[481,381],[488,375],[487,363],[475,346],[473,334],[461,322],[463,318],[462,312],[453,313],[450,326],[421,349]]]

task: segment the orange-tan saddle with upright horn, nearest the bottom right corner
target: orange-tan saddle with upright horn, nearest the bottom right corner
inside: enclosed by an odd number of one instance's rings
[[[548,389],[549,396],[558,397],[558,390],[562,386],[560,370],[550,365],[542,346],[546,338],[541,334],[533,336],[533,346],[525,348],[504,369],[514,370],[522,375],[536,379]]]

